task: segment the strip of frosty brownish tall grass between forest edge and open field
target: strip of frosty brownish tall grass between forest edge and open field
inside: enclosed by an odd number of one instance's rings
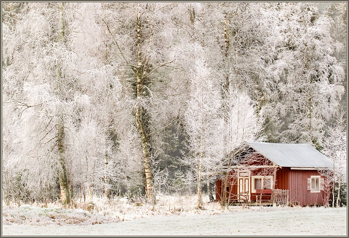
[[[3,224],[100,224],[130,221],[158,215],[185,216],[190,214],[219,215],[229,212],[246,210],[297,209],[278,206],[276,208],[229,206],[222,207],[219,202],[209,202],[208,196],[203,196],[203,209],[195,208],[196,195],[159,195],[153,206],[146,203],[142,197],[128,199],[115,197],[109,200],[93,197],[92,201],[74,200],[70,205],[60,202],[16,204],[9,206],[2,203]]]

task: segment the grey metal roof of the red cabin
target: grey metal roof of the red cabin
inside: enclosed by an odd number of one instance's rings
[[[255,151],[281,167],[331,168],[332,161],[309,144],[246,142]]]

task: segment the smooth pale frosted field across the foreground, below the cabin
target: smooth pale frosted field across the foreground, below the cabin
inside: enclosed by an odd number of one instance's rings
[[[231,208],[94,225],[2,225],[3,236],[301,235],[346,236],[347,208]]]

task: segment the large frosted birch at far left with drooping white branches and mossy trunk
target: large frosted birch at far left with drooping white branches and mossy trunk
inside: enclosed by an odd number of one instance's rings
[[[15,29],[9,32],[13,41],[7,44],[13,48],[12,52],[8,48],[5,55],[12,56],[12,60],[4,69],[5,90],[9,89],[10,100],[20,110],[17,119],[23,126],[23,133],[18,135],[18,142],[23,145],[20,163],[36,164],[36,160],[41,160],[44,163],[37,164],[43,164],[44,171],[50,171],[47,167],[56,168],[64,203],[70,200],[64,153],[70,123],[67,115],[72,105],[70,84],[74,81],[70,71],[74,54],[66,45],[68,12],[64,3],[25,4],[18,13]],[[16,87],[11,87],[12,82],[16,82]],[[24,170],[29,173],[28,182],[37,183],[45,174],[38,171],[40,166]],[[43,175],[30,174],[35,171]]]

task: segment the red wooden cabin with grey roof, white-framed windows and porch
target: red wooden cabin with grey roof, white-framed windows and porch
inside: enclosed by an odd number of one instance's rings
[[[226,166],[228,176],[216,181],[216,201],[232,203],[328,203],[331,184],[323,176],[333,167],[329,158],[309,144],[246,142]]]

